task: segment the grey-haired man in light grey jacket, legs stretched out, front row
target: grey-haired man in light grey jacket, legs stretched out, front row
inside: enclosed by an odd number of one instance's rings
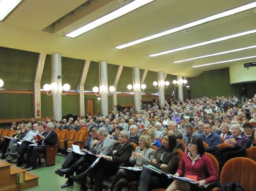
[[[66,163],[64,162],[62,168],[57,169],[57,172],[55,172],[58,175],[65,174],[65,178],[68,178],[66,183],[62,185],[61,188],[73,185],[74,182],[70,179],[70,176],[74,174],[78,167],[83,164],[83,166],[88,166],[88,164],[90,166],[96,160],[97,156],[106,155],[107,153],[109,153],[114,143],[116,143],[116,141],[107,136],[107,131],[105,129],[99,129],[97,131],[97,140],[92,141],[91,145],[89,146],[91,153],[93,153],[94,155],[85,154],[75,163],[74,161]],[[86,184],[86,181],[84,182],[84,184]]]

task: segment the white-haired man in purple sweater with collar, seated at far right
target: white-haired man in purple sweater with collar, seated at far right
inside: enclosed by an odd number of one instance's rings
[[[240,127],[240,125],[232,125],[231,133],[232,135],[228,135],[227,137],[225,137],[224,143],[230,143],[231,145],[234,146],[243,146],[245,148],[247,138],[244,135],[241,135],[242,128]]]

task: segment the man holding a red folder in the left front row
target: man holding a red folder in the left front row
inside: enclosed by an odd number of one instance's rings
[[[43,125],[39,125],[38,131],[39,131],[39,134],[37,134],[37,135],[42,135],[44,137],[47,135],[47,132],[45,132],[45,127]],[[42,140],[37,141],[35,136],[34,136],[34,140],[35,140],[37,145],[42,144]],[[16,163],[16,166],[21,166],[23,164],[24,154],[28,150],[28,147],[29,147],[30,144],[32,144],[30,141],[24,140],[21,143],[21,145],[19,146],[16,153],[10,153],[10,156],[12,156],[13,158],[18,158],[18,162]],[[28,168],[28,167],[26,167],[26,168]]]

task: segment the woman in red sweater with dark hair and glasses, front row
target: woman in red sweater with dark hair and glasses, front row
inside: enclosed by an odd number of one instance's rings
[[[196,175],[197,184],[188,183],[176,179],[166,191],[200,191],[205,183],[217,181],[218,175],[214,169],[211,159],[204,154],[203,141],[199,137],[191,137],[188,140],[188,151],[181,158],[180,166],[174,174],[176,177],[186,177]]]

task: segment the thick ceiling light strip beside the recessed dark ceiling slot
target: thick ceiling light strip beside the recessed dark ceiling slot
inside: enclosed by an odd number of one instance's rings
[[[99,27],[100,25],[105,24],[106,22],[112,21],[113,19],[116,19],[120,16],[123,16],[126,13],[129,13],[143,5],[146,5],[147,3],[150,3],[154,0],[135,0],[125,6],[122,6],[118,10],[115,10],[95,21],[92,21],[91,23],[84,25],[83,27],[80,27],[79,29],[74,30],[73,32],[70,32],[66,34],[66,37],[72,37],[75,38],[85,32],[88,32],[89,30],[92,30],[96,27]]]

